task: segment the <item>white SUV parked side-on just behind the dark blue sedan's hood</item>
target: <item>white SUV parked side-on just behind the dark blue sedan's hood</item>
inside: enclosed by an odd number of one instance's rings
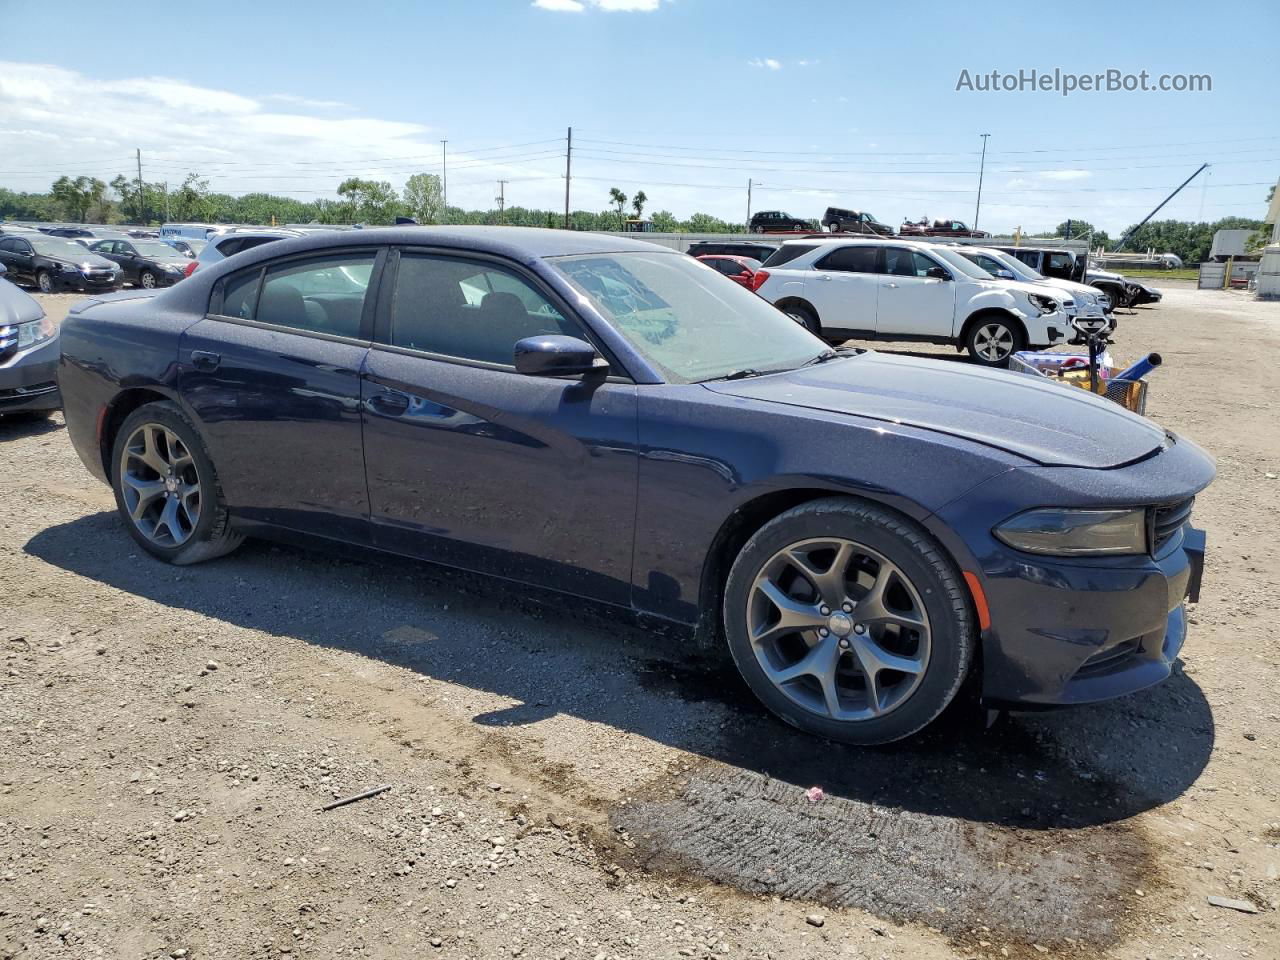
[[[1065,342],[1075,314],[1065,291],[997,280],[952,247],[911,241],[787,241],[755,282],[756,293],[833,343],[954,343],[987,366]]]

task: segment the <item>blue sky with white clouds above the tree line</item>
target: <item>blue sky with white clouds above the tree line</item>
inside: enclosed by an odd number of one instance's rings
[[[0,186],[136,174],[334,197],[349,175],[440,173],[448,201],[563,210],[644,191],[646,212],[1051,229],[1261,218],[1280,177],[1280,4],[470,0],[169,5],[59,27],[0,0]],[[96,23],[92,29],[72,24]],[[106,26],[113,23],[114,26]],[[982,90],[992,70],[1208,76],[1211,90]],[[1005,81],[998,79],[996,86]],[[447,147],[442,148],[442,140]]]

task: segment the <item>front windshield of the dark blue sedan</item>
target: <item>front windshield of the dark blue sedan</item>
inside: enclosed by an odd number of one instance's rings
[[[671,383],[792,370],[827,351],[768,301],[682,253],[549,262]]]

